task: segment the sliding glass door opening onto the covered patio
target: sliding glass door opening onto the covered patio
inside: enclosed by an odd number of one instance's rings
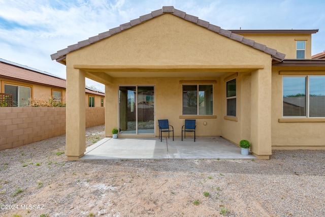
[[[154,86],[119,87],[119,133],[154,134]]]

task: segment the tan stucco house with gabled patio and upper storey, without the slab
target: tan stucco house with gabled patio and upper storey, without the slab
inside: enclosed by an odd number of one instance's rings
[[[318,29],[225,30],[172,6],[51,55],[67,67],[69,160],[85,152],[85,77],[105,84],[105,134],[157,137],[169,119],[198,136],[272,149],[325,149],[325,61],[311,59]],[[199,145],[199,140],[197,141]]]

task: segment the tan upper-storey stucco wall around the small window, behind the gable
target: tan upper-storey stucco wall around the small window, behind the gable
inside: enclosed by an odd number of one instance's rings
[[[284,53],[286,59],[296,59],[296,41],[306,41],[305,58],[311,59],[311,34],[240,34]]]

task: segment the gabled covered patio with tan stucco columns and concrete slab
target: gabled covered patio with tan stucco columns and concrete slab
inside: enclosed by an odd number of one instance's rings
[[[51,57],[67,67],[69,160],[242,158],[236,145],[215,145],[219,136],[250,140],[259,159],[272,154],[272,61],[284,54],[266,45],[171,6]],[[119,131],[118,140],[92,150],[85,147],[85,78],[105,84],[105,136]],[[158,141],[159,119],[169,119],[175,141]],[[180,142],[185,119],[196,119],[201,141]]]

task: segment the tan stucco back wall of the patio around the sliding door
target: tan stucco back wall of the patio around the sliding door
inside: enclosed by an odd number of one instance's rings
[[[181,136],[184,119],[196,119],[196,134],[198,136],[221,135],[221,104],[220,104],[220,79],[200,78],[191,79],[200,84],[200,81],[210,80],[213,84],[213,115],[182,115],[182,83],[184,78],[118,78],[116,84],[106,85],[105,92],[111,98],[106,98],[106,136],[112,136],[111,130],[118,127],[118,84],[137,85],[150,84],[155,86],[155,134],[159,135],[158,119],[169,119],[169,124],[174,127],[175,136]],[[188,80],[188,78],[186,79]],[[207,122],[207,125],[203,125]],[[122,136],[122,135],[120,135]]]

